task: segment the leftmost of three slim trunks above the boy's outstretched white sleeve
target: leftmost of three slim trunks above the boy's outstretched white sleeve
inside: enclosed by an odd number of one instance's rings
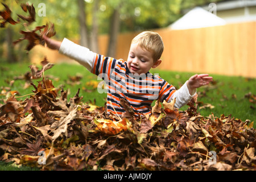
[[[79,6],[80,45],[89,48],[84,0],[77,0],[77,5]]]

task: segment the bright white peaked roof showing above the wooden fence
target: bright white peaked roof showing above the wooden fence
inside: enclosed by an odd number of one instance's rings
[[[183,17],[172,23],[169,27],[172,30],[184,30],[191,28],[203,28],[225,25],[224,19],[209,13],[201,7],[195,7]]]

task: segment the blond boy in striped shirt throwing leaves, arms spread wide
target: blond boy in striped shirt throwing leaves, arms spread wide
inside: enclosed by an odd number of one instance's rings
[[[136,115],[150,114],[154,100],[171,102],[176,98],[175,107],[180,108],[195,96],[196,88],[212,81],[208,74],[194,75],[176,90],[163,78],[152,75],[149,71],[160,65],[164,49],[162,38],[155,32],[145,31],[133,39],[127,61],[99,55],[68,39],[63,42],[46,36],[44,39],[49,48],[75,59],[106,82],[108,113],[112,111],[119,116],[125,112],[120,98],[129,102]]]

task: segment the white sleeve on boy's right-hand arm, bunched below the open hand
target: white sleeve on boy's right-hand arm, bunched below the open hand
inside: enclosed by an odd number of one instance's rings
[[[191,96],[191,94],[189,94],[189,90],[188,90],[188,86],[187,86],[187,81],[185,82],[185,84],[183,86],[181,86],[181,88],[179,90],[177,90],[174,93],[174,96],[172,98],[176,98],[176,102],[175,102],[175,107],[177,107],[178,109],[180,109],[180,107],[188,104],[189,101],[191,101],[191,99],[196,95],[196,92],[193,93],[193,95]]]

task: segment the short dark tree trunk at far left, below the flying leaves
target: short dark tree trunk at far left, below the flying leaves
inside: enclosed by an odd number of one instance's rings
[[[7,61],[9,63],[16,63],[17,59],[13,47],[13,30],[10,27],[6,28],[6,43],[7,43]]]

